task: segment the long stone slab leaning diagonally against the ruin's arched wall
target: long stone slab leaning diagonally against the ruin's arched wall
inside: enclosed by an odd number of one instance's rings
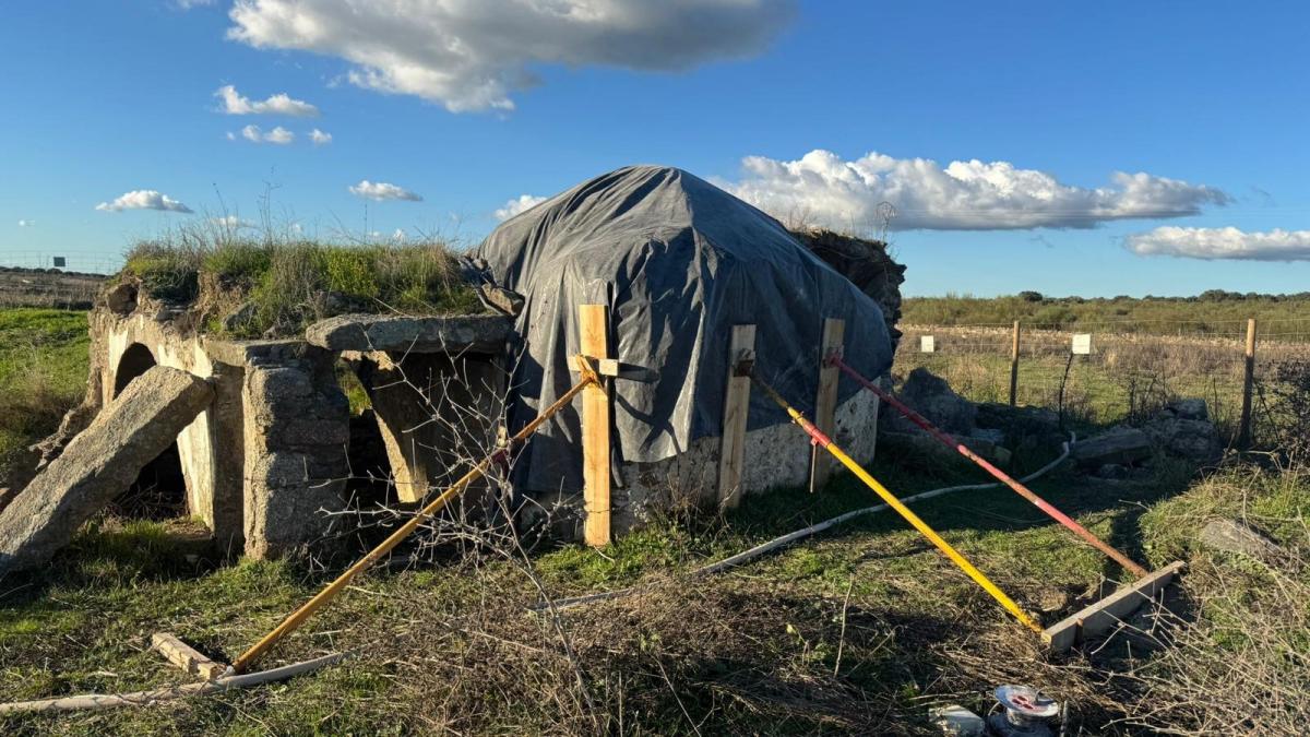
[[[156,366],[134,379],[0,513],[0,576],[48,561],[212,399],[208,383],[177,368]]]

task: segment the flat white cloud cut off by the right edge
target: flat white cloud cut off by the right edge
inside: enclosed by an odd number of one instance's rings
[[[1163,227],[1124,239],[1138,256],[1233,258],[1242,261],[1310,261],[1310,231],[1247,232],[1238,228]]]

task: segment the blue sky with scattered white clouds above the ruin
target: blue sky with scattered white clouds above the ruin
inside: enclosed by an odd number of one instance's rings
[[[1302,4],[186,5],[7,4],[0,261],[113,260],[265,193],[312,235],[476,243],[660,163],[814,224],[891,202],[908,294],[1310,290]],[[225,85],[318,115],[229,114]]]

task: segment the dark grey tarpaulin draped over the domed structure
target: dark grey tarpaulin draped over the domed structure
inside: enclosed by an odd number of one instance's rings
[[[660,460],[722,434],[734,325],[756,325],[756,372],[807,414],[824,317],[846,320],[848,363],[867,376],[891,365],[874,300],[781,223],[681,169],[626,167],[583,182],[500,224],[474,256],[527,298],[511,429],[578,380],[579,304],[609,306],[613,358],[659,371],[654,383],[613,383],[616,460]],[[842,379],[840,400],[855,391]],[[752,392],[751,429],[786,421]],[[557,414],[524,450],[520,488],[580,490],[579,438],[578,413]]]

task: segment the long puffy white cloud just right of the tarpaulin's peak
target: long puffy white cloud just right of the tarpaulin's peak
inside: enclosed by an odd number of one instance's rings
[[[743,160],[739,182],[720,182],[782,219],[863,229],[880,224],[879,205],[895,209],[896,229],[1090,228],[1107,220],[1195,215],[1227,205],[1224,191],[1138,172],[1116,172],[1108,186],[1066,185],[1009,161],[893,159],[867,153],[846,161],[816,149],[795,161]]]

